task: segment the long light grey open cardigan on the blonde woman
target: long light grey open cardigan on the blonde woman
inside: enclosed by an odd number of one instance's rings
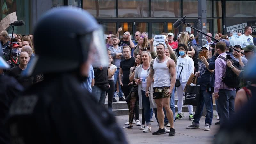
[[[139,65],[138,68],[135,69],[135,73],[134,73],[134,79],[138,79],[140,77],[141,71],[142,71],[142,65]],[[147,70],[147,76],[149,75],[149,70],[150,70],[150,65],[148,67]],[[156,103],[155,100],[153,100],[153,84],[154,82],[152,82],[152,84],[149,87],[149,103],[150,103],[150,108],[156,108]],[[142,98],[141,98],[141,85],[139,84],[139,104],[140,104],[140,108],[142,108]]]

